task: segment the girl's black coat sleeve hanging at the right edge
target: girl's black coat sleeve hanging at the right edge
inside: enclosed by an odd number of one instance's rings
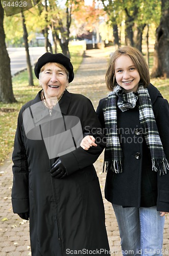
[[[167,100],[165,99],[163,99],[163,103],[159,108],[156,123],[163,145],[164,153],[169,163],[169,105]],[[169,170],[165,175],[157,175],[157,179],[157,210],[169,212]]]

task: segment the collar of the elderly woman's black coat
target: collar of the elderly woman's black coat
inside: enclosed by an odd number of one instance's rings
[[[31,105],[41,101],[41,92],[42,92],[42,90],[39,91],[39,93],[37,94],[35,99],[32,101]],[[71,93],[69,93],[67,90],[65,90],[61,100],[59,101],[59,106],[60,106],[61,112],[64,115],[66,115],[68,112],[71,98],[72,98]]]

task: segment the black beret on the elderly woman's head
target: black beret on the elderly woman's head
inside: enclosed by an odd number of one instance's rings
[[[39,73],[40,73],[41,68],[46,63],[49,63],[49,62],[56,62],[56,63],[62,64],[67,69],[67,71],[69,72],[69,82],[73,81],[74,73],[73,73],[72,63],[70,62],[70,58],[66,57],[62,53],[52,54],[50,52],[46,52],[45,54],[43,54],[38,59],[38,62],[35,65],[34,72],[35,72],[35,75],[38,79],[39,79]]]

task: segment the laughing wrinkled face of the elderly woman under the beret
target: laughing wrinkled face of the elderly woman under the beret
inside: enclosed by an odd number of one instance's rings
[[[68,74],[64,67],[57,63],[46,63],[39,74],[39,83],[44,90],[46,99],[59,99],[68,86]]]

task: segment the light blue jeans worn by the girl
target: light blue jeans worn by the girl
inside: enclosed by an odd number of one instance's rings
[[[112,205],[116,214],[123,255],[162,255],[165,217],[157,207]]]

